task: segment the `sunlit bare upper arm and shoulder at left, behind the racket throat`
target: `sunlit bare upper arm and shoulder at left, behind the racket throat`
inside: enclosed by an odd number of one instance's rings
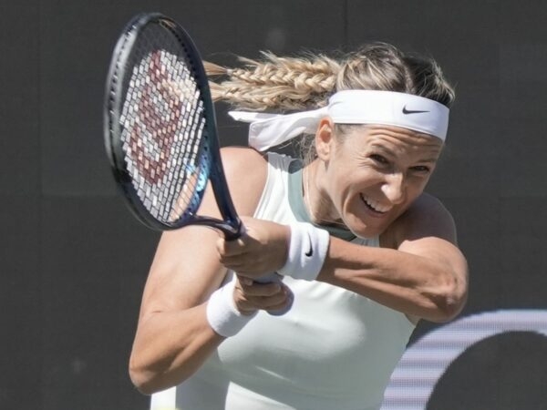
[[[266,178],[266,161],[253,149],[222,149],[222,165],[233,204],[241,215],[253,214]],[[208,185],[198,215],[221,218]],[[187,226],[161,235],[147,279],[140,318],[188,309],[205,302],[222,282],[226,270],[216,251],[219,233],[203,226]]]

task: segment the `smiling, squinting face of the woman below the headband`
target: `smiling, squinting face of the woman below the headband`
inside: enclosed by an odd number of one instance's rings
[[[423,192],[442,142],[406,128],[347,129],[344,135],[333,131],[333,138],[321,140],[328,147],[323,146],[326,156],[320,156],[325,178],[318,183],[332,203],[331,218],[360,237],[376,236]]]

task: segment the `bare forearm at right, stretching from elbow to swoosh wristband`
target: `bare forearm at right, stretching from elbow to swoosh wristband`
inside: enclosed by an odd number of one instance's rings
[[[331,238],[317,280],[411,316],[444,322],[458,314],[465,302],[463,271],[463,263],[454,266],[406,251],[363,247]]]

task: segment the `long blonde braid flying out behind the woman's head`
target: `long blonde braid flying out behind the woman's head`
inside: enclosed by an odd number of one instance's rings
[[[227,77],[211,82],[212,98],[226,100],[237,108],[297,110],[325,106],[335,91],[339,64],[324,55],[280,57],[263,53],[262,61],[240,57],[241,68],[205,63],[209,77]]]

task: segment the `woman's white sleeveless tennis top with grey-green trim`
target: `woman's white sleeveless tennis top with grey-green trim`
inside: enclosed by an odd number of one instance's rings
[[[269,153],[254,217],[310,221],[302,193],[300,161]],[[329,231],[379,246],[378,238]],[[232,279],[229,272],[225,281]],[[284,282],[294,292],[289,313],[259,312],[189,379],[153,395],[151,410],[377,410],[414,325],[355,292],[290,277]]]

